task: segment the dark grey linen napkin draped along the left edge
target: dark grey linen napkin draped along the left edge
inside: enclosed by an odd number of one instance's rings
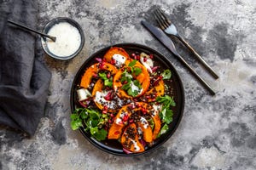
[[[37,59],[37,36],[7,20],[36,28],[37,14],[37,1],[0,1],[0,125],[28,135],[44,116],[51,75]]]

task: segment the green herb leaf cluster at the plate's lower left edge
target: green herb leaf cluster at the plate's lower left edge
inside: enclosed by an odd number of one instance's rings
[[[108,132],[102,127],[108,122],[108,115],[88,108],[78,108],[70,117],[73,130],[83,127],[83,124],[85,124],[84,131],[90,132],[95,139],[106,139]]]

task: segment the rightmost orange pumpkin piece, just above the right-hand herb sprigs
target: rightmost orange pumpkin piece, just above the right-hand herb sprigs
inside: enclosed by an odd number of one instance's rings
[[[165,94],[165,82],[161,79],[156,86],[146,92],[145,97],[148,102],[154,101],[158,96]]]

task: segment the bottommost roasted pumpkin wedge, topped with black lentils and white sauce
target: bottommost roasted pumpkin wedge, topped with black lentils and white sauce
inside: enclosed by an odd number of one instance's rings
[[[143,152],[145,149],[138,136],[136,124],[131,123],[122,134],[121,144],[126,150],[130,150],[133,153]]]

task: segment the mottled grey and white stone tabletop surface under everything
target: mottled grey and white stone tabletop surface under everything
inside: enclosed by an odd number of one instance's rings
[[[256,1],[255,0],[58,0],[42,1],[40,26],[55,17],[77,20],[84,29],[83,51],[59,61],[44,56],[52,72],[46,116],[32,139],[0,130],[0,169],[256,169]],[[188,50],[183,54],[218,91],[214,97],[140,21],[160,6],[183,37],[218,71],[215,81]],[[69,126],[70,88],[85,59],[119,42],[137,42],[170,55],[183,80],[186,105],[176,133],[143,156],[119,157],[96,149]]]

